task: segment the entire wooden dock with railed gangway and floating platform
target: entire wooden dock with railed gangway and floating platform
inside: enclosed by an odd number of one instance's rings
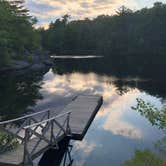
[[[33,166],[35,158],[50,148],[58,148],[64,137],[82,140],[102,102],[101,96],[79,95],[57,116],[47,111],[1,122],[0,129],[16,136],[21,144],[0,154],[0,166]],[[20,120],[24,123],[13,129],[11,126]]]

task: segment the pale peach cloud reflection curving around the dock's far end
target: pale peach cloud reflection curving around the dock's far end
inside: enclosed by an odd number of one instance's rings
[[[45,76],[42,91],[49,95],[56,94],[64,97],[81,93],[100,94],[104,97],[104,106],[97,114],[97,118],[105,118],[102,128],[115,135],[140,139],[141,130],[131,122],[124,120],[123,116],[131,111],[131,106],[135,105],[135,99],[141,95],[141,92],[133,89],[121,96],[117,93],[117,87],[111,83],[114,80],[113,77],[98,76],[94,73],[54,75],[50,70]]]

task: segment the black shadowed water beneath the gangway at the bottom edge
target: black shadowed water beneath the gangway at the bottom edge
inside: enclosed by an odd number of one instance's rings
[[[42,156],[39,166],[72,166],[72,145],[70,139],[64,138],[58,143],[59,149],[50,149]]]

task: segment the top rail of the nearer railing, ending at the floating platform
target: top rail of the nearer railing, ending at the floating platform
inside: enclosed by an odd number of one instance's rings
[[[59,115],[57,115],[57,116],[55,116],[55,117],[53,117],[53,118],[43,120],[42,122],[39,122],[39,123],[34,123],[34,124],[32,124],[32,125],[25,126],[24,129],[26,130],[26,129],[28,129],[28,128],[33,128],[33,127],[35,127],[35,126],[38,126],[38,125],[41,125],[41,124],[44,124],[44,123],[48,123],[48,122],[50,122],[50,121],[52,121],[52,120],[54,120],[54,119],[57,119],[57,118],[60,118],[60,117],[62,117],[62,116],[64,116],[64,115],[69,115],[69,114],[71,114],[71,111],[65,112],[65,113],[63,113],[63,114],[59,114]]]

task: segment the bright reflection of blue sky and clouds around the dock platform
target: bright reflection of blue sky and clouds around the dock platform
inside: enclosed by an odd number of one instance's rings
[[[43,103],[49,105],[55,99],[61,101],[62,98],[66,99],[67,103],[78,94],[100,94],[104,97],[103,107],[85,139],[82,142],[73,142],[73,165],[107,166],[111,163],[119,166],[133,156],[136,148],[149,148],[156,152],[154,143],[162,138],[164,133],[157,127],[152,127],[144,117],[134,112],[131,106],[136,104],[136,98],[144,98],[160,108],[163,98],[152,96],[136,86],[127,86],[126,83],[125,88],[120,88],[125,89],[121,93],[115,77],[93,72],[59,75],[50,70],[43,80],[40,90],[43,99],[38,106]],[[142,83],[142,80],[140,82]],[[138,84],[137,80],[136,85]],[[58,107],[57,102],[56,106]]]

